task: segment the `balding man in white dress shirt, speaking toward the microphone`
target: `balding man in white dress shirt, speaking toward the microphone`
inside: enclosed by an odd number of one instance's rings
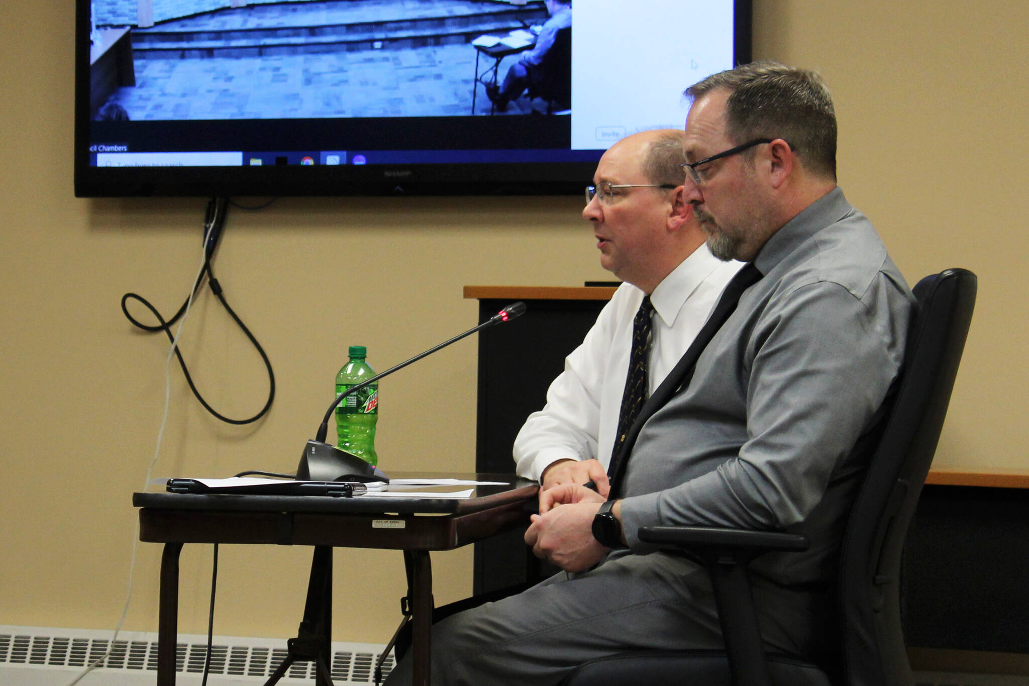
[[[607,467],[629,369],[633,319],[644,296],[654,314],[648,394],[693,342],[741,263],[708,250],[683,200],[683,132],[625,138],[600,158],[582,216],[593,224],[601,265],[625,283],[514,440],[517,471],[542,490],[593,480],[607,495]]]

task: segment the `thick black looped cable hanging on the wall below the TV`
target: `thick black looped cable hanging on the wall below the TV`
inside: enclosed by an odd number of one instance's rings
[[[215,249],[217,248],[218,245],[218,239],[221,237],[221,229],[225,223],[225,213],[227,210],[227,205],[228,205],[228,200],[225,197],[213,197],[211,198],[211,202],[208,203],[207,215],[204,220],[204,265],[201,268],[200,274],[197,275],[197,279],[193,282],[192,289],[190,290],[189,295],[186,298],[186,301],[182,303],[182,306],[179,308],[178,312],[176,312],[175,315],[170,320],[165,321],[165,318],[162,317],[161,313],[157,312],[156,308],[150,304],[150,302],[146,298],[136,293],[126,293],[125,295],[121,296],[121,312],[125,314],[126,318],[130,322],[132,322],[133,325],[136,326],[137,328],[143,329],[144,331],[149,331],[151,333],[156,331],[164,331],[168,335],[168,338],[170,340],[173,340],[171,327],[175,324],[175,322],[179,320],[179,318],[182,317],[183,313],[188,306],[188,303],[192,300],[193,297],[196,297],[197,292],[200,290],[201,286],[204,283],[204,279],[206,277],[207,284],[210,287],[211,292],[215,294],[215,296],[221,302],[221,305],[225,309],[225,312],[228,313],[229,317],[233,318],[233,321],[236,322],[236,324],[240,327],[240,329],[243,330],[243,333],[246,334],[247,338],[249,338],[250,342],[253,344],[253,347],[257,350],[257,353],[260,354],[261,360],[263,360],[264,362],[264,367],[268,369],[268,380],[269,380],[268,400],[264,402],[264,406],[256,414],[245,420],[234,420],[228,417],[225,417],[224,414],[214,409],[210,404],[208,404],[207,400],[204,399],[204,396],[202,396],[200,391],[197,390],[197,386],[196,384],[193,384],[192,376],[189,374],[189,369],[186,367],[186,363],[182,359],[182,353],[179,352],[178,346],[173,347],[175,356],[179,361],[179,366],[182,368],[182,373],[186,378],[186,383],[189,385],[189,390],[192,391],[193,396],[196,396],[197,400],[200,401],[200,404],[203,405],[204,408],[211,414],[213,414],[214,417],[216,417],[217,419],[221,420],[226,424],[244,425],[256,422],[257,420],[262,418],[272,407],[272,402],[275,400],[275,372],[272,370],[272,362],[268,359],[268,355],[264,353],[264,349],[257,341],[257,338],[254,337],[253,333],[250,332],[250,329],[247,328],[247,326],[239,318],[236,312],[229,306],[228,302],[225,300],[225,295],[223,289],[221,288],[221,284],[219,284],[218,280],[215,279],[214,277],[212,260],[214,258]],[[147,310],[150,311],[150,313],[157,320],[158,324],[156,326],[151,324],[144,324],[143,322],[133,317],[132,314],[129,312],[129,306],[128,306],[129,300],[137,300],[140,303],[142,303]]]

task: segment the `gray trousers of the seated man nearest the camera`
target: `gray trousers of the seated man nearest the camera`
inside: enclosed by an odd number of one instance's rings
[[[710,579],[688,559],[619,551],[571,577],[558,574],[518,595],[433,624],[433,686],[544,686],[559,683],[582,662],[627,650],[723,645]],[[810,600],[760,588],[755,595],[770,648],[808,653]],[[410,683],[409,651],[386,684]]]

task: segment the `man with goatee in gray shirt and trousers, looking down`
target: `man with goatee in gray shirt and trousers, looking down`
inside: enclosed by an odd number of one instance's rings
[[[725,317],[715,306],[653,391],[600,493],[582,485],[596,465],[541,491],[526,542],[567,574],[433,625],[433,684],[557,684],[627,650],[721,648],[707,572],[642,543],[653,525],[806,535],[808,551],[751,565],[761,635],[771,651],[832,659],[861,438],[899,370],[914,297],[837,187],[836,115],[815,74],[754,63],[686,95],[682,197],[711,252],[747,262],[722,294],[739,302]],[[401,660],[389,683],[410,678]]]

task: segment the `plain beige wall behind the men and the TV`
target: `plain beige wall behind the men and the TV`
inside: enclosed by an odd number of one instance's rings
[[[833,89],[841,185],[909,279],[948,266],[980,275],[936,465],[1025,469],[1026,3],[754,4],[755,57],[817,68]],[[118,300],[135,291],[166,313],[179,304],[199,267],[205,202],[73,197],[72,9],[0,7],[0,623],[105,628],[125,598],[130,498],[153,456],[167,350],[130,327]],[[256,427],[226,427],[173,369],[154,474],[292,469],[347,345],[367,345],[382,368],[474,322],[465,284],[605,278],[579,208],[577,197],[286,198],[234,211],[217,275],[274,361],[276,404]],[[431,316],[405,320],[412,308]],[[260,361],[210,294],[183,349],[217,407],[260,407]],[[474,350],[462,341],[383,383],[387,467],[472,467]],[[310,553],[223,549],[215,631],[291,636]],[[127,628],[155,629],[158,556],[139,546]],[[204,630],[210,556],[209,546],[183,552],[183,631]],[[469,591],[470,559],[434,555],[437,603]],[[400,554],[341,551],[336,564],[339,602],[358,597],[366,610],[340,613],[335,639],[385,642],[399,619]]]

